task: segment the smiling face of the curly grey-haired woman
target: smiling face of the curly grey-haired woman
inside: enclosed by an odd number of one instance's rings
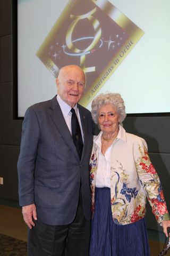
[[[112,104],[103,105],[98,110],[98,124],[101,131],[104,133],[117,133],[118,132],[119,117],[116,109]]]

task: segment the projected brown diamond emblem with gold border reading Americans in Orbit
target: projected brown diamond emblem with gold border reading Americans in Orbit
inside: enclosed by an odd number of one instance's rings
[[[36,54],[55,77],[66,65],[84,70],[86,107],[143,34],[107,0],[71,0]]]

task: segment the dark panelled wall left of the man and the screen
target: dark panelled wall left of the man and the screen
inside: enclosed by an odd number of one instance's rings
[[[20,148],[21,120],[13,120],[12,1],[0,1],[0,196],[18,200],[16,162]]]

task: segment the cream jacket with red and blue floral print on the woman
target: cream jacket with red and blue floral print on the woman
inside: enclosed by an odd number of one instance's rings
[[[90,158],[92,212],[95,208],[99,152],[95,140]],[[125,225],[142,219],[146,213],[146,198],[159,224],[163,220],[170,220],[158,174],[150,162],[146,141],[126,133],[120,125],[111,151],[111,206],[114,222]]]

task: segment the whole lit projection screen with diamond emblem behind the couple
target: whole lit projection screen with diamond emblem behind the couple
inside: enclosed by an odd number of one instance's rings
[[[89,110],[112,92],[127,114],[170,113],[169,10],[169,0],[18,0],[18,117],[52,99],[72,64],[86,73]]]

